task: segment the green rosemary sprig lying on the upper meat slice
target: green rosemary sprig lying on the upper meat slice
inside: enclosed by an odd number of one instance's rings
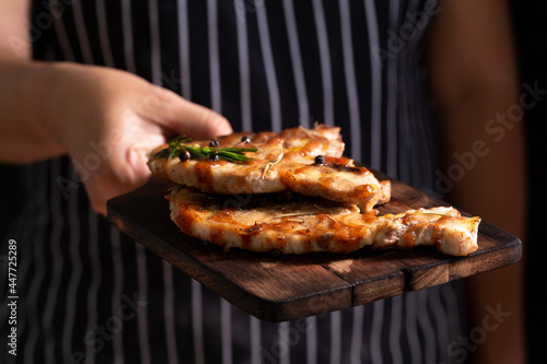
[[[185,144],[191,141],[190,138],[178,136],[170,141],[168,146],[154,154],[155,158],[172,160],[181,153],[187,151],[194,157],[220,158],[228,162],[245,162],[249,157],[244,152],[256,152],[256,148],[217,148],[217,146],[195,146]]]

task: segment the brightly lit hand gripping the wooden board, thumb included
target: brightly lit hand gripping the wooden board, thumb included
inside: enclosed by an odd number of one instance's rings
[[[131,73],[72,63],[58,66],[45,106],[48,130],[69,154],[92,208],[143,185],[147,152],[174,134],[211,138],[232,132],[219,114]]]

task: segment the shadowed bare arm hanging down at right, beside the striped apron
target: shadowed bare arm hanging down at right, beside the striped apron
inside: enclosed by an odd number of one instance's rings
[[[442,11],[432,25],[426,58],[444,162],[439,173],[445,184],[438,187],[450,202],[513,233],[525,246],[521,119],[532,95],[522,98],[519,92],[507,1],[439,3]],[[466,353],[474,362],[524,361],[523,281],[523,261],[466,281],[467,339],[475,334]],[[492,309],[504,315],[496,329],[485,327]],[[477,340],[477,332],[486,337]]]

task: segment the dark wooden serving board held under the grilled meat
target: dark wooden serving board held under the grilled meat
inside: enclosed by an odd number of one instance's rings
[[[482,221],[479,249],[468,257],[423,247],[410,251],[364,248],[348,257],[334,254],[279,256],[222,249],[184,235],[171,221],[164,199],[170,186],[152,180],[108,201],[107,218],[235,306],[267,321],[283,321],[446,283],[516,262],[519,238]],[[382,213],[444,206],[420,190],[392,181],[392,201]]]

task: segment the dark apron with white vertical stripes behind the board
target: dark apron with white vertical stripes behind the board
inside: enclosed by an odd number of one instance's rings
[[[419,64],[433,10],[423,0],[44,0],[30,24],[37,59],[135,72],[225,115],[234,130],[337,125],[348,156],[433,190]],[[21,179],[26,202],[4,238],[18,242],[18,363],[456,359],[457,284],[264,322],[93,213],[68,158],[22,167]],[[7,283],[2,268],[2,298]],[[2,338],[8,315],[2,304]],[[0,347],[2,363],[15,362],[9,349]]]

